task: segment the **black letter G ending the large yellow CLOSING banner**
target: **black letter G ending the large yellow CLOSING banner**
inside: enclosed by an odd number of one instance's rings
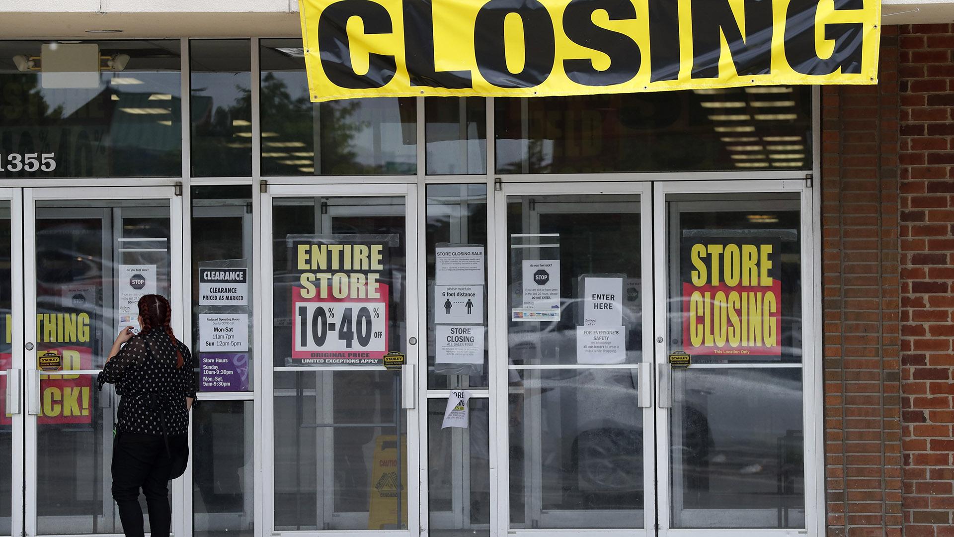
[[[825,39],[835,41],[835,52],[822,59],[815,47],[815,25],[820,0],[791,0],[785,15],[785,59],[802,75],[861,73],[863,27],[858,23],[825,25]],[[861,10],[863,0],[835,0],[836,11]]]

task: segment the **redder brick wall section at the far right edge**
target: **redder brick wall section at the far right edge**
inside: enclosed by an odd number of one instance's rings
[[[904,534],[954,536],[954,28],[900,29]]]

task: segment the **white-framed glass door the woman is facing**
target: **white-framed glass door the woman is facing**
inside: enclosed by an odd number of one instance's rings
[[[55,199],[27,189],[25,265],[28,534],[121,533],[110,485],[118,397],[95,389],[115,334],[136,322],[140,296],[180,300],[180,199],[138,188],[135,200]],[[121,192],[120,192],[121,195]],[[35,283],[34,283],[35,282]],[[35,319],[35,322],[32,321]],[[174,329],[181,319],[174,313]],[[147,526],[148,531],[148,526]]]

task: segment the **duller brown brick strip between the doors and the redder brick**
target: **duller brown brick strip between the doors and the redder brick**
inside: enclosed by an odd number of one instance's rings
[[[902,535],[898,27],[878,86],[822,89],[828,534]]]

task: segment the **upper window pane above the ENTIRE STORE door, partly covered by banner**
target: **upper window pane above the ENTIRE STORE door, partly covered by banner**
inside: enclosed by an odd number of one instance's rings
[[[312,103],[301,39],[261,41],[261,174],[413,175],[417,102]]]

